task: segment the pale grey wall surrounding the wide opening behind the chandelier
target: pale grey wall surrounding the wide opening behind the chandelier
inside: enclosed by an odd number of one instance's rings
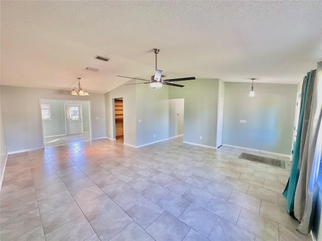
[[[92,139],[106,137],[104,94],[71,95],[70,91],[1,86],[8,152],[42,148],[39,99],[91,100]]]

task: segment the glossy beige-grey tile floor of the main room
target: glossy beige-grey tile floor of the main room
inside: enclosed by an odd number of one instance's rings
[[[238,159],[241,152],[176,138],[10,155],[1,240],[311,240],[285,209],[290,162],[276,168]]]

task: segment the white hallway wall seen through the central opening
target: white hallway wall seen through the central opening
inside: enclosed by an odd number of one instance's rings
[[[169,99],[169,137],[183,134],[184,107],[185,99]]]

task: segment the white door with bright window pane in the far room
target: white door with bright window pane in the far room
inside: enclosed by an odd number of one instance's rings
[[[82,104],[65,104],[67,135],[84,132]]]

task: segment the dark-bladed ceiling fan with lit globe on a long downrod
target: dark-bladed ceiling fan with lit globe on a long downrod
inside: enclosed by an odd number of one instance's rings
[[[157,67],[156,67],[156,64],[157,64],[157,57],[156,56],[160,52],[160,50],[159,49],[153,49],[153,52],[155,54],[155,74],[151,76],[150,80],[140,79],[140,78],[132,78],[132,77],[126,77],[126,76],[120,76],[120,75],[117,75],[117,76],[118,77],[123,77],[123,78],[129,78],[129,79],[143,80],[143,81],[146,81],[146,82],[134,83],[134,84],[150,84],[150,86],[153,87],[153,88],[161,87],[163,84],[164,85],[175,86],[175,87],[184,87],[184,85],[173,84],[171,82],[196,79],[195,77],[186,77],[186,78],[178,78],[178,79],[165,79],[165,80],[162,79],[162,77],[165,77],[165,76],[162,75],[162,70],[158,70]],[[132,85],[132,84],[125,84],[125,85]]]

